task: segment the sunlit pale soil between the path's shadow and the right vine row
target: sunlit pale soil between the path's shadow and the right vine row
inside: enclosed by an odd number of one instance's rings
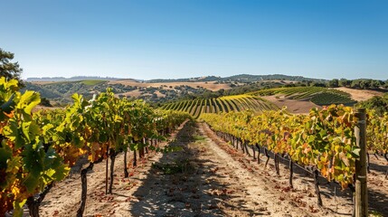
[[[273,162],[264,168],[266,157],[260,156],[260,164],[232,148],[221,138],[216,137],[209,127],[202,124],[203,132],[212,138],[212,149],[224,161],[234,165],[239,184],[236,189],[245,189],[250,195],[243,197],[245,203],[260,203],[269,216],[348,216],[351,205],[345,199],[346,193],[338,193],[332,197],[325,189],[320,189],[325,207],[317,206],[317,196],[314,191],[313,179],[306,176],[304,171],[294,168],[293,184],[289,187],[288,168],[280,165],[280,176],[276,174]],[[214,145],[213,145],[214,144]],[[216,144],[216,145],[215,145]],[[251,152],[251,155],[253,152]],[[231,160],[232,158],[232,160]],[[295,167],[295,166],[294,166]],[[320,180],[321,183],[322,180]],[[338,190],[339,191],[339,190]],[[251,215],[247,215],[251,216]]]

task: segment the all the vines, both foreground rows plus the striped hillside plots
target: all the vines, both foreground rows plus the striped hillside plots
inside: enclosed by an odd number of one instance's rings
[[[243,152],[248,153],[250,148],[253,153],[259,151],[258,155],[260,149],[266,156],[268,152],[274,153],[278,173],[279,157],[288,157],[290,164],[308,167],[316,177],[320,174],[344,189],[354,187],[355,161],[360,149],[355,146],[355,110],[349,107],[331,105],[311,109],[308,115],[290,115],[258,97],[273,93],[258,91],[250,95],[184,100],[152,109],[141,100],[115,98],[107,90],[89,101],[74,94],[72,105],[66,109],[33,112],[40,102],[39,94],[28,90],[22,94],[18,90],[16,80],[0,80],[1,213],[22,216],[26,204],[32,216],[39,216],[39,206],[52,184],[62,181],[72,165],[87,157],[89,165],[80,171],[82,192],[77,215],[82,216],[87,173],[94,164],[107,160],[106,193],[112,193],[118,153],[124,153],[123,173],[128,177],[128,152],[133,155],[132,164],[137,165],[138,157],[149,151],[175,151],[158,143],[176,126],[193,117],[206,122],[232,146],[240,144]],[[279,92],[280,89],[264,91]],[[342,92],[331,90],[302,92],[281,93],[298,99],[313,99],[317,94],[336,94],[350,99]],[[388,160],[387,125],[388,115],[377,117],[373,110],[368,111],[368,149]],[[292,166],[289,182],[292,187]],[[319,203],[319,191],[317,194]]]

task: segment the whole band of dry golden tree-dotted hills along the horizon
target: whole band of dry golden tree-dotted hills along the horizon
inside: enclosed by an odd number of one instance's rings
[[[85,98],[89,99],[94,93],[106,91],[107,88],[112,88],[113,92],[119,98],[144,99],[147,102],[155,103],[155,105],[162,105],[164,103],[171,103],[183,99],[212,99],[222,96],[240,95],[259,90],[264,93],[268,90],[281,87],[295,88],[294,90],[300,89],[298,95],[300,95],[301,100],[294,99],[297,98],[294,94],[292,99],[288,99],[287,101],[308,101],[315,103],[315,105],[327,105],[331,103],[353,104],[355,102],[353,99],[360,101],[370,99],[373,96],[382,95],[383,91],[387,91],[388,80],[318,80],[302,76],[288,76],[281,74],[240,74],[225,78],[206,76],[182,80],[147,81],[78,76],[69,79],[62,77],[30,78],[25,81],[25,85],[26,87],[24,90],[35,90],[40,92],[41,96],[51,100],[52,105],[54,106],[62,106],[71,103],[71,95],[73,93],[80,93]],[[338,95],[338,92],[334,92],[334,90],[327,90],[327,92],[326,89],[324,89],[325,87],[343,90],[348,94],[347,96],[344,94]],[[280,90],[283,91],[285,89]],[[313,90],[317,90],[319,94],[317,94],[316,91],[312,92],[314,93],[314,96],[307,94],[309,91]],[[325,90],[325,93],[323,93],[323,90]],[[308,97],[305,97],[307,95]],[[350,97],[353,99],[350,99]],[[279,101],[276,96],[274,96],[273,99],[275,102]],[[301,110],[298,109],[298,112],[300,111]]]

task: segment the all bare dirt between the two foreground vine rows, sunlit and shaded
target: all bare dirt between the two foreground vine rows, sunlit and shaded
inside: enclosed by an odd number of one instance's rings
[[[150,153],[130,169],[129,178],[123,178],[118,156],[113,194],[104,193],[105,163],[95,165],[85,216],[350,216],[348,192],[336,189],[333,196],[333,186],[321,188],[325,207],[319,208],[304,172],[295,169],[290,189],[287,167],[276,175],[272,164],[263,168],[203,123],[188,122],[172,138],[168,146],[181,151]],[[80,177],[72,175],[47,195],[41,214],[75,216],[79,198]]]

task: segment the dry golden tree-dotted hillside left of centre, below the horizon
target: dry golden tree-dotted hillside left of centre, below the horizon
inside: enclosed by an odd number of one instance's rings
[[[89,99],[94,93],[104,92],[108,88],[119,98],[145,99],[157,103],[231,89],[229,84],[207,81],[148,83],[136,80],[66,80],[25,81],[24,90],[38,91],[43,98],[51,100],[53,105],[62,106],[71,103],[71,95],[74,93]]]

